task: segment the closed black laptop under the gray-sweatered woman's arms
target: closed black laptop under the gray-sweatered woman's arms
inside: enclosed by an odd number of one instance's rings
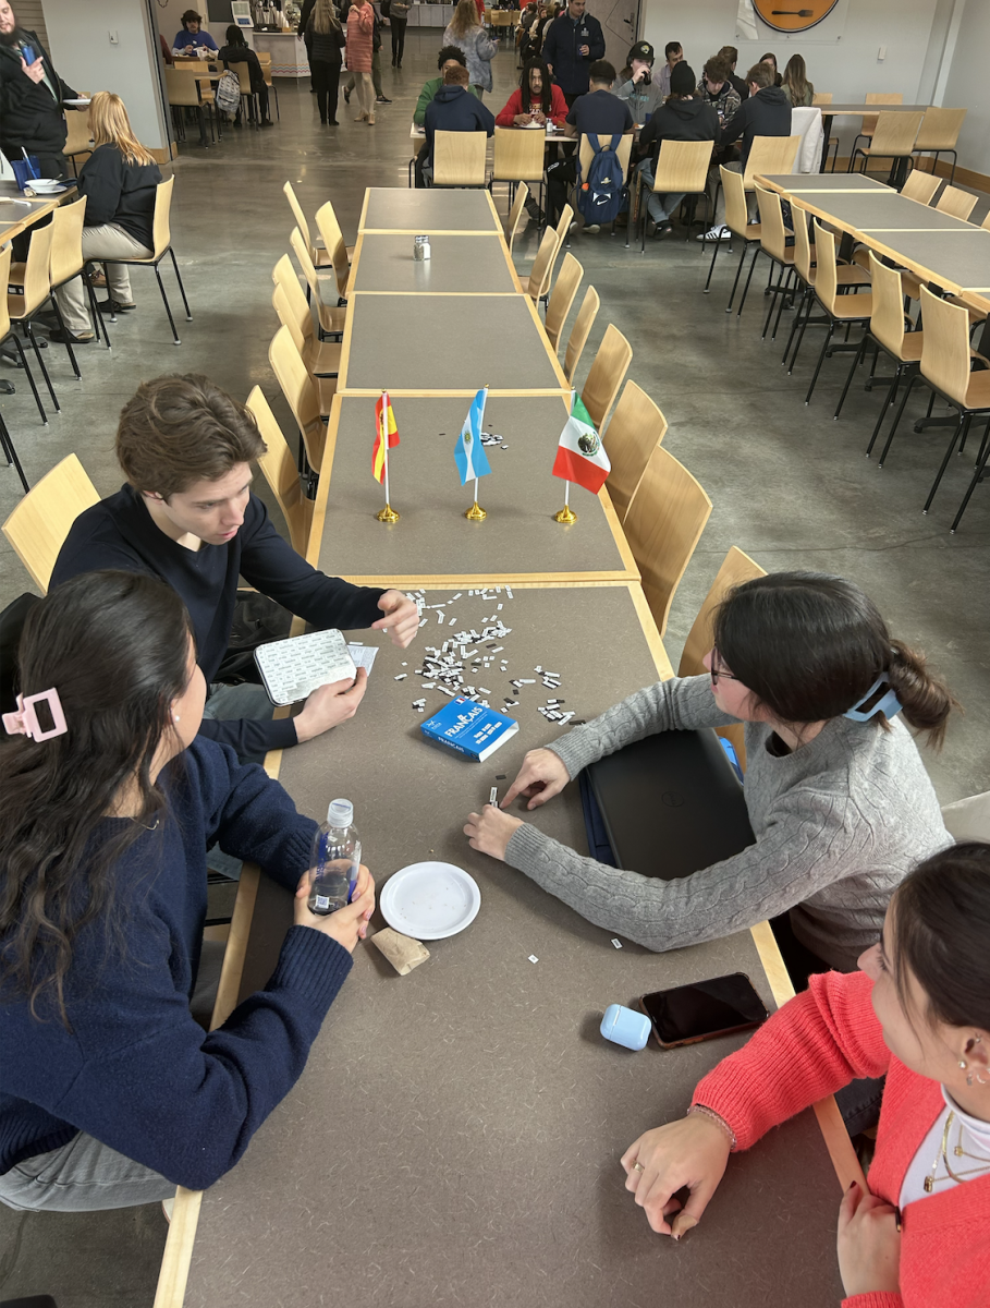
[[[756,842],[718,736],[661,731],[586,769],[615,866],[674,880]]]

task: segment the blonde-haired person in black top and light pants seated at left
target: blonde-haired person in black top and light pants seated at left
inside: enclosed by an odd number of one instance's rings
[[[155,187],[162,174],[150,150],[131,129],[127,109],[119,95],[101,90],[89,106],[93,153],[82,165],[78,192],[86,198],[86,226],[82,229],[82,258],[108,260],[110,294],[99,305],[104,314],[127,313],[135,307],[127,266],[116,259],[150,259],[154,252]],[[59,313],[73,345],[93,340],[82,279],[55,292]],[[51,334],[61,340],[61,330]]]

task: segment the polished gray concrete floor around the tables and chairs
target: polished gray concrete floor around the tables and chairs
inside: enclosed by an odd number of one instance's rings
[[[405,186],[409,120],[415,97],[434,76],[439,34],[409,30],[406,67],[384,71],[392,105],[377,107],[377,126],[351,122],[341,103],[336,131],[320,129],[308,89],[279,82],[281,124],[270,132],[232,128],[222,144],[182,148],[175,166],[172,238],[195,320],[182,320],[174,348],[150,273],[135,271],[138,310],[111,327],[114,351],[80,349],[84,381],[72,379],[60,347],[52,358],[61,416],[42,428],[30,392],[3,396],[4,417],[31,483],[76,451],[101,494],[120,473],[112,455],[118,413],[141,378],[175,369],[201,370],[238,396],[260,382],[286,433],[291,419],[268,365],[276,318],[270,271],[287,250],[291,216],[281,194],[286,178],[307,215],[333,199],[347,239],[354,239],[364,187]],[[388,60],[387,60],[388,61]],[[495,111],[516,81],[513,58],[495,61]],[[498,196],[504,205],[504,194]],[[982,196],[974,220],[982,220]],[[535,252],[533,230],[516,245],[522,271]],[[633,347],[630,377],[652,395],[670,422],[666,447],[695,473],[714,509],[674,599],[666,645],[677,667],[687,630],[730,545],[768,570],[803,568],[841,573],[872,595],[893,634],[917,644],[947,678],[965,713],[953,722],[940,756],[926,763],[943,802],[990,786],[990,487],[974,494],[956,536],[948,534],[970,476],[956,459],[929,517],[921,505],[944,450],[947,433],[902,436],[879,472],[863,450],[876,419],[876,395],[855,386],[842,417],[832,420],[848,356],[828,361],[810,407],[805,390],[816,356],[810,332],[794,377],[780,366],[782,341],[760,341],[763,296],[751,293],[742,319],[726,315],[734,260],[720,255],[709,296],[701,294],[708,254],[695,241],[648,243],[645,256],[624,249],[623,235],[576,239],[573,254],[585,285],[602,300],[579,369],[579,385],[609,322]],[[172,306],[171,273],[165,271]],[[579,297],[580,300],[580,297]],[[789,315],[785,324],[789,330]],[[457,324],[451,343],[462,348]],[[566,332],[569,331],[569,324]],[[566,335],[564,335],[566,339]],[[410,340],[410,351],[423,344]],[[471,345],[485,349],[483,341]],[[388,381],[388,360],[383,358]],[[0,375],[16,379],[5,365]],[[922,412],[922,402],[913,404]],[[261,477],[259,490],[266,494]],[[0,466],[0,519],[20,500],[13,470]],[[277,514],[277,510],[276,510]],[[33,589],[5,539],[0,540],[0,607]],[[59,1308],[146,1308],[154,1296],[165,1244],[157,1207],[95,1215],[22,1216],[0,1206],[0,1295],[52,1294]],[[219,1305],[218,1305],[219,1308]]]

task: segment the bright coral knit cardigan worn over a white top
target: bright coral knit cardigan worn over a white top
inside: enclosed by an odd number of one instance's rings
[[[944,1108],[942,1090],[883,1042],[862,972],[827,972],[790,999],[695,1090],[748,1148],[857,1076],[887,1074],[870,1189],[897,1206],[918,1146]],[[990,1287],[990,1175],[909,1203],[901,1214],[900,1294],[853,1295],[842,1308],[986,1308]]]

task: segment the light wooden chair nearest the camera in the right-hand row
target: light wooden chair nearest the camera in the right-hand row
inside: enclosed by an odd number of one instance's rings
[[[956,447],[956,441],[960,442],[960,450],[963,450],[966,443],[966,436],[969,434],[969,425],[973,420],[973,415],[990,413],[990,370],[980,369],[978,371],[970,371],[972,353],[969,345],[969,314],[964,307],[960,305],[951,305],[946,300],[933,296],[927,286],[921,286],[921,314],[925,323],[925,334],[921,348],[921,368],[904,388],[904,396],[901,398],[897,416],[893,420],[889,436],[887,437],[887,443],[884,445],[880,455],[880,467],[883,467],[887,453],[891,449],[891,442],[893,441],[895,433],[900,425],[904,408],[912,390],[914,388],[914,383],[921,379],[935,395],[946,400],[950,408],[956,409],[959,413],[959,422],[952,432],[948,449],[946,450],[946,456],[942,460],[942,467],[935,476],[935,481],[929,492],[929,498],[925,501],[925,508],[922,509],[922,513],[927,513],[931,508],[931,501],[935,498],[935,492],[939,488],[939,483],[942,481],[942,476],[948,466],[952,451]],[[987,446],[990,446],[990,441],[985,437],[981,456],[986,454]],[[973,493],[973,487],[978,480],[981,467],[985,464],[985,458],[981,458],[981,460],[977,462],[977,471],[973,481],[970,483],[969,490],[960,505],[951,531],[955,531],[959,526],[959,519],[963,517],[963,511],[969,502],[969,496]]]

